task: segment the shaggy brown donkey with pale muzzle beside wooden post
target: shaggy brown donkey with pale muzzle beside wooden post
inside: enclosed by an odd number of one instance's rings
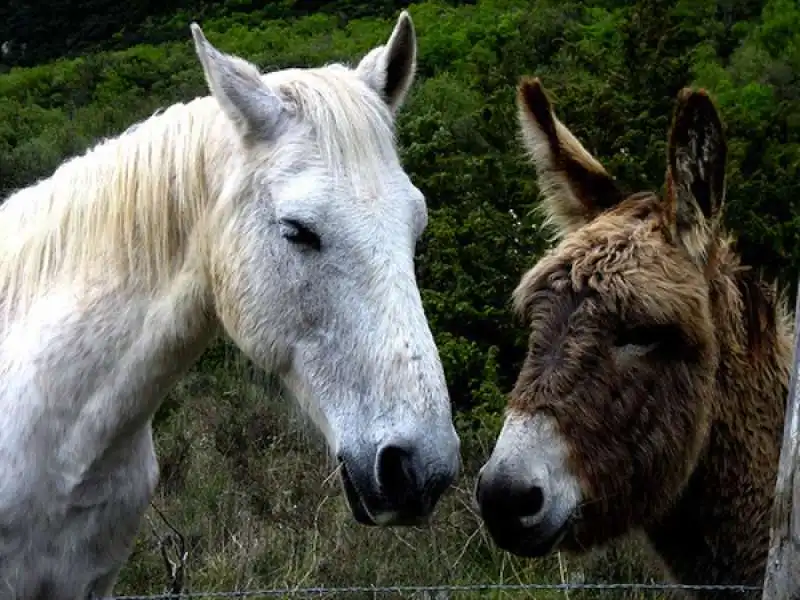
[[[792,325],[722,226],[714,105],[680,93],[663,197],[623,193],[538,79],[518,106],[560,241],[514,292],[529,349],[476,485],[492,538],[542,556],[643,529],[681,583],[759,585]]]

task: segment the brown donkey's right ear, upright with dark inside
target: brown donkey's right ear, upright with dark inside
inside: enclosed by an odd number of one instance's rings
[[[666,198],[679,239],[698,258],[706,255],[725,201],[726,156],[711,98],[704,90],[682,89],[669,135]]]

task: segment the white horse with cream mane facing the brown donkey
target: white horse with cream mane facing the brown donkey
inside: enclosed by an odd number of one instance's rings
[[[421,522],[457,475],[393,135],[411,19],[354,69],[266,75],[192,33],[211,96],[0,207],[0,598],[112,593],[153,414],[218,326],[308,409],[359,522]]]

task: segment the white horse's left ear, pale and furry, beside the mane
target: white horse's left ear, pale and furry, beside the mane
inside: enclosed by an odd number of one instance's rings
[[[281,99],[261,80],[258,68],[217,50],[197,23],[191,24],[195,51],[211,94],[246,138],[270,138],[286,111]]]

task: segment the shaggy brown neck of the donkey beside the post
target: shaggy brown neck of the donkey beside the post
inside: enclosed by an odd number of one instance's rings
[[[719,341],[713,418],[686,488],[648,533],[683,583],[763,579],[791,364],[787,312],[732,254],[710,281]],[[741,598],[729,592],[702,598]],[[754,596],[755,597],[755,596]],[[758,595],[760,597],[760,595]]]

